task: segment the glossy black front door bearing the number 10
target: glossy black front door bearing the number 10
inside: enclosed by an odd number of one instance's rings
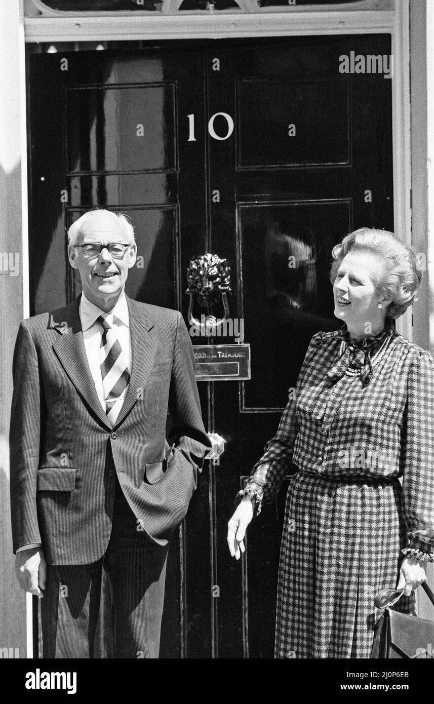
[[[205,426],[226,452],[205,463],[172,543],[163,658],[273,655],[287,481],[250,527],[242,563],[229,558],[226,523],[310,337],[339,325],[333,244],[362,225],[393,229],[391,82],[340,73],[351,51],[388,55],[390,36],[30,56],[32,314],[79,293],[65,228],[107,207],[136,228],[129,296],[178,308],[188,324],[189,260],[217,253],[231,267],[231,318],[251,347],[249,381],[198,384]],[[100,641],[110,655],[105,618]]]

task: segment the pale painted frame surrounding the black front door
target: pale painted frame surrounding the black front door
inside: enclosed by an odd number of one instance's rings
[[[301,37],[305,35],[381,34],[391,35],[394,72],[392,77],[392,160],[394,194],[394,230],[411,245],[411,122],[410,122],[410,46],[409,1],[393,0],[391,10],[364,11],[291,11],[217,15],[149,15],[89,16],[74,13],[56,17],[26,18],[20,0],[25,42],[124,42],[165,39],[238,39],[240,37]],[[90,14],[90,13],[89,13]],[[25,42],[21,42],[22,65],[25,65]],[[20,72],[21,88],[26,78]],[[22,123],[26,115],[23,110]],[[27,151],[23,145],[23,311],[30,309],[28,223],[27,223]],[[426,243],[428,246],[428,242]],[[397,331],[413,340],[411,310],[397,320]],[[33,658],[32,598],[27,594],[27,658]]]

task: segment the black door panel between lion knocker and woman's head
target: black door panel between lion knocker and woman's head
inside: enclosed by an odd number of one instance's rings
[[[341,325],[329,273],[331,250],[350,231],[350,203],[245,204],[239,222],[252,357],[245,408],[282,408],[312,335]]]

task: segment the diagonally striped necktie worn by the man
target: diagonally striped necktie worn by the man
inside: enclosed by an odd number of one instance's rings
[[[98,321],[103,326],[101,335],[100,362],[103,378],[106,414],[115,425],[129,384],[127,353],[122,350],[114,323],[120,322],[113,314],[100,315]]]

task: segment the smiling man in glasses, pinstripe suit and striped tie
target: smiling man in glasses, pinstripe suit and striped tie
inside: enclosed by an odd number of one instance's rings
[[[211,447],[191,339],[177,310],[125,295],[125,215],[91,210],[68,237],[82,294],[23,320],[15,345],[16,571],[42,598],[44,658],[93,658],[103,568],[115,657],[158,658],[168,541]]]

